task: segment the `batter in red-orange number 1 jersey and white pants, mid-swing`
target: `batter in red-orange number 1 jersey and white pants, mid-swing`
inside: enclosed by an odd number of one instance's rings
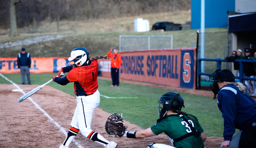
[[[86,48],[75,48],[72,50],[68,61],[70,61],[70,66],[63,67],[59,71],[58,77],[53,77],[53,81],[61,85],[74,82],[77,103],[71,128],[60,148],[68,148],[79,131],[85,137],[102,144],[105,148],[116,148],[115,142],[106,140],[91,129],[93,111],[100,104],[100,92],[97,90],[97,60],[90,61],[89,52]],[[66,72],[69,73],[61,78]]]

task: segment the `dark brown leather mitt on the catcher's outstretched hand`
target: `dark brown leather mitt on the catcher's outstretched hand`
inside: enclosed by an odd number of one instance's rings
[[[113,138],[121,138],[125,134],[124,120],[118,113],[112,113],[106,120],[105,131]]]

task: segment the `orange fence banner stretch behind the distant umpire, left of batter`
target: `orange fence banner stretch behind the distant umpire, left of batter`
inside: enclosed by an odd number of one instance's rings
[[[68,66],[67,57],[31,57],[30,73],[53,73],[65,66]],[[1,57],[0,73],[20,73],[17,57]]]

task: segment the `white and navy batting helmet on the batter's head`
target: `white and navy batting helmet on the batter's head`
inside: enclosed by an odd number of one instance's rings
[[[71,51],[70,57],[68,58],[69,64],[74,68],[76,66],[81,66],[85,62],[89,61],[90,54],[86,48],[79,47]]]

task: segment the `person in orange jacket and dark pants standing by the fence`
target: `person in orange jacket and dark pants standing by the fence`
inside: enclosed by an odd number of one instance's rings
[[[114,54],[110,54],[111,52]],[[108,53],[107,56],[111,59],[111,78],[112,78],[112,85],[110,87],[118,87],[119,86],[119,68],[122,63],[121,55],[117,52],[116,48],[112,48]]]

